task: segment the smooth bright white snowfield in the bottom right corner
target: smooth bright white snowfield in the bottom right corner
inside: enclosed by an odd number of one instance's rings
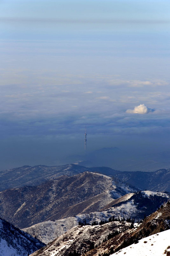
[[[165,256],[170,255],[170,229],[142,238],[138,244],[132,244],[111,256]]]

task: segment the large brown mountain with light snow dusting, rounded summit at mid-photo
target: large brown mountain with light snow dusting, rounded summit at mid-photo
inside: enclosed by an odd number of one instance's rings
[[[36,187],[0,192],[0,216],[19,228],[26,228],[42,221],[99,211],[113,198],[134,190],[102,174],[60,176]]]

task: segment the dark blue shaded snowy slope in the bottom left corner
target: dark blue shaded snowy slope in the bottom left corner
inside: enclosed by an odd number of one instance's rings
[[[27,256],[45,244],[0,218],[0,255]]]

